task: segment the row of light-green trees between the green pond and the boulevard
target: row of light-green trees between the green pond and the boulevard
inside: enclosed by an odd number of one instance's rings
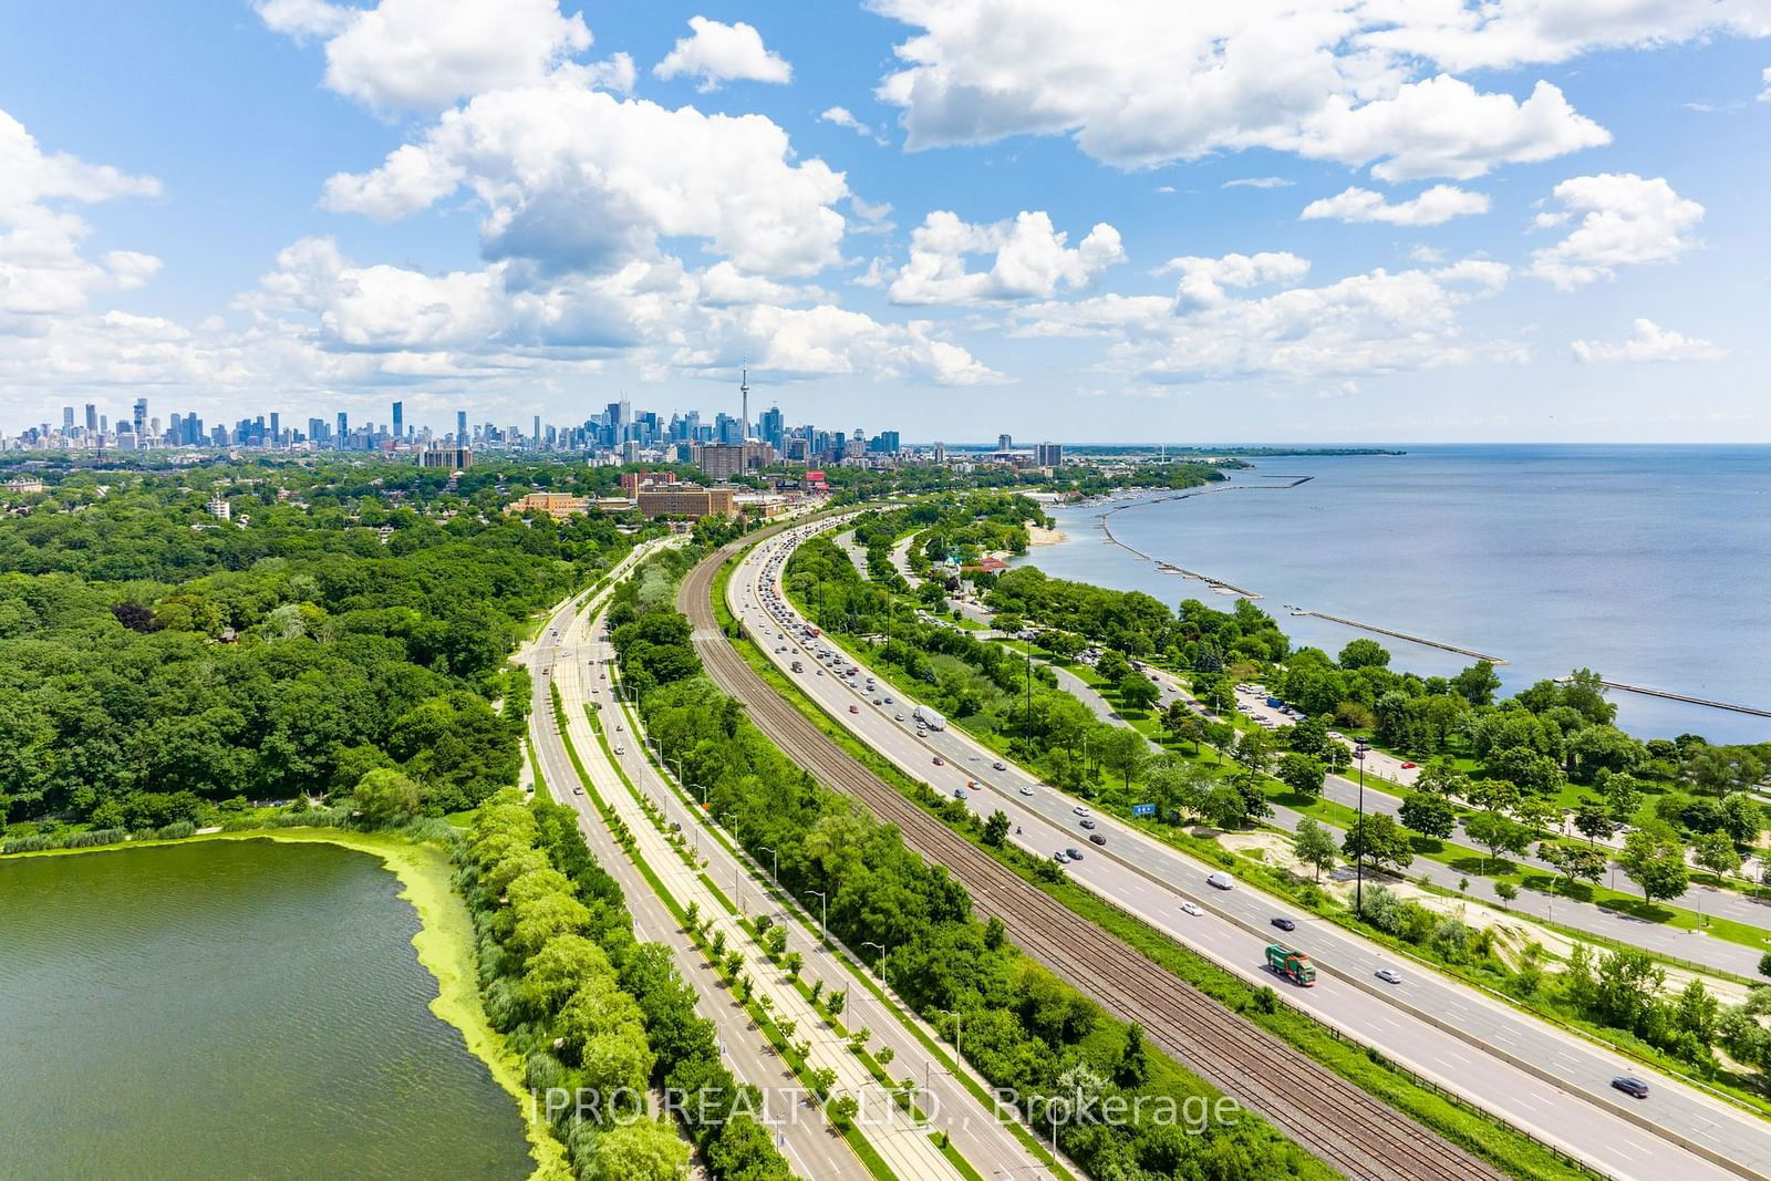
[[[501,791],[457,855],[475,919],[487,1016],[524,1059],[524,1078],[579,1177],[678,1176],[687,1146],[646,1115],[653,1089],[678,1107],[714,1176],[792,1176],[753,1087],[719,1062],[712,1022],[669,949],[632,935],[620,885],[597,864],[572,809]],[[577,1096],[597,1096],[579,1103]]]

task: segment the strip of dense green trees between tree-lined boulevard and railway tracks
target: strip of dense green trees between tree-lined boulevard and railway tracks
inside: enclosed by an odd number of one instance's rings
[[[622,590],[616,591],[622,600]],[[831,930],[850,947],[886,947],[878,970],[907,1004],[960,1032],[965,1057],[1017,1092],[1043,1137],[1091,1176],[1328,1176],[1272,1126],[1245,1112],[1204,1126],[1144,1115],[1070,1123],[1064,1103],[1118,1096],[1130,1110],[1201,1110],[1218,1098],[1201,1078],[1149,1050],[1135,1027],[1024,956],[999,922],[971,915],[946,869],[924,864],[889,825],[795,768],[700,676],[682,614],[638,597],[611,609],[622,673],[641,715],[710,807],[758,859],[779,853],[779,878],[800,903],[829,894]],[[762,850],[770,850],[763,853]],[[822,908],[822,903],[820,903]],[[1139,1105],[1137,1100],[1144,1103]],[[1192,1103],[1188,1103],[1192,1100]],[[1057,1124],[1054,1128],[1054,1124]],[[1192,1135],[1188,1135],[1192,1133]]]

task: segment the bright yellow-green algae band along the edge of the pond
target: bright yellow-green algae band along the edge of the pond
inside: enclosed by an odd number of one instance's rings
[[[530,1146],[535,1169],[530,1181],[567,1176],[565,1147],[538,1117],[522,1085],[521,1064],[512,1055],[503,1034],[492,1029],[480,1000],[478,965],[475,963],[473,919],[468,903],[455,892],[453,869],[448,853],[434,845],[418,845],[402,838],[354,829],[241,829],[237,832],[198,832],[170,841],[124,841],[120,845],[94,845],[89,848],[43,848],[28,853],[5,853],[0,862],[25,857],[71,857],[80,853],[115,853],[133,848],[166,845],[193,845],[197,841],[283,841],[289,845],[336,845],[381,861],[383,869],[400,884],[397,898],[418,915],[418,931],[411,944],[418,965],[437,984],[437,995],[427,1004],[439,1022],[453,1027],[475,1059],[485,1064],[492,1082],[510,1094],[517,1105],[517,1119]]]

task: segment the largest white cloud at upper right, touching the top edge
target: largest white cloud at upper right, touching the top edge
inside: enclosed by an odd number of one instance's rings
[[[877,89],[903,110],[910,149],[1071,135],[1089,156],[1137,168],[1266,147],[1404,181],[1472,179],[1610,138],[1546,81],[1523,99],[1481,92],[1365,39],[1411,27],[1415,5],[1401,0],[873,7],[917,30]]]

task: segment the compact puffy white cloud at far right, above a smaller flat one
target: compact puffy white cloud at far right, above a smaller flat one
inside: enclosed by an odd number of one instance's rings
[[[1562,290],[1613,278],[1620,266],[1672,262],[1697,244],[1691,230],[1704,220],[1704,207],[1665,179],[1633,172],[1571,177],[1555,186],[1555,198],[1580,225],[1534,250],[1530,273]],[[1550,225],[1543,214],[1537,223]]]

